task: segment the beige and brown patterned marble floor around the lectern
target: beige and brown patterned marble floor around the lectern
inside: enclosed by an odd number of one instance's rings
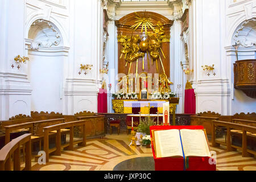
[[[32,162],[32,171],[123,170],[122,165],[118,164],[132,165],[135,158],[142,158],[151,164],[148,170],[154,169],[151,148],[129,146],[129,137],[130,135],[121,133],[120,135],[106,135],[105,139],[87,140],[86,147],[77,146],[74,151],[62,151],[61,156],[50,156],[46,165]],[[225,147],[210,147],[210,150],[217,154],[217,170],[219,171],[256,171],[256,159],[242,158],[241,151],[226,152]]]

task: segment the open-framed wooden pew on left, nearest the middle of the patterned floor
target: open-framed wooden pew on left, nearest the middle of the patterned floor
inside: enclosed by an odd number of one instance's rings
[[[44,127],[44,151],[46,152],[46,161],[49,162],[49,154],[54,152],[54,155],[61,155],[61,148],[65,148],[67,150],[73,150],[74,144],[79,144],[80,146],[86,146],[86,129],[85,129],[86,121],[74,121],[61,123],[58,125],[52,125]],[[82,127],[82,140],[74,142],[74,127],[81,126]],[[69,143],[61,145],[61,129],[69,129]],[[49,134],[51,131],[57,131],[56,133],[56,147],[49,149]]]

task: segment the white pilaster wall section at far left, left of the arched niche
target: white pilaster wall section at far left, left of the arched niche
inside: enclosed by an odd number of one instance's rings
[[[31,88],[26,66],[18,69],[14,57],[24,55],[24,1],[0,2],[0,119],[30,114]],[[14,13],[15,12],[15,13]],[[11,65],[14,64],[14,68]]]

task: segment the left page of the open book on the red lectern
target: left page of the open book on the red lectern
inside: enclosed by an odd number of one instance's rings
[[[157,158],[183,157],[179,130],[154,131]]]

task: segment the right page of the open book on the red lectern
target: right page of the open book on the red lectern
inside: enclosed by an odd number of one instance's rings
[[[184,155],[187,156],[210,156],[209,146],[204,130],[180,130]]]

